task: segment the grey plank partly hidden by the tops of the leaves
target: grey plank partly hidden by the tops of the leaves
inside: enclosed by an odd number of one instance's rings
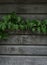
[[[0,14],[0,19],[6,14]],[[38,19],[38,20],[44,20],[47,19],[47,14],[17,14],[18,16],[23,17],[24,19]]]

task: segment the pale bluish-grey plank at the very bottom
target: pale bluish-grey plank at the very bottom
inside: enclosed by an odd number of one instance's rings
[[[47,65],[47,56],[0,56],[0,65]]]

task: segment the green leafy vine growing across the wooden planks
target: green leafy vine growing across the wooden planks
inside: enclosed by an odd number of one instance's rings
[[[7,30],[29,30],[31,32],[47,34],[47,19],[42,21],[30,19],[24,20],[21,16],[17,16],[16,13],[11,13],[4,15],[0,20],[0,39],[7,37],[8,33],[5,32]]]

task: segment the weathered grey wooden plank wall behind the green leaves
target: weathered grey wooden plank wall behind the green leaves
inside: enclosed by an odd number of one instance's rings
[[[15,11],[30,19],[47,19],[47,0],[0,0],[0,18]],[[0,65],[47,65],[47,36],[10,35],[0,40]]]

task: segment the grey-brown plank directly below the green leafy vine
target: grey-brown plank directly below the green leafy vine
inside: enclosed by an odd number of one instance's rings
[[[47,44],[47,36],[10,35],[6,40],[0,40],[0,44]]]

